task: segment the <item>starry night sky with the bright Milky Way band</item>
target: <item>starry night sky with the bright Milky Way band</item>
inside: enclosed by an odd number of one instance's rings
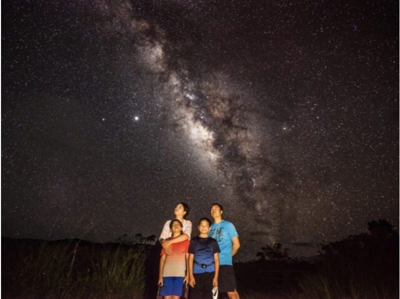
[[[113,241],[218,201],[237,260],[398,226],[398,3],[1,3],[1,235]],[[195,234],[193,230],[193,234]]]

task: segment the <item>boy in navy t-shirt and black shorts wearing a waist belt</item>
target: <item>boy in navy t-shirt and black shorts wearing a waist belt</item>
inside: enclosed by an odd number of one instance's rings
[[[190,299],[212,299],[212,287],[218,286],[219,247],[216,240],[208,236],[211,221],[198,221],[198,236],[189,245]]]

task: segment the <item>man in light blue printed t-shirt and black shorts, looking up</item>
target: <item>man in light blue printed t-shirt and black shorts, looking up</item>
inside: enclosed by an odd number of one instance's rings
[[[231,222],[222,219],[222,212],[222,205],[211,204],[211,217],[214,223],[208,235],[216,239],[220,250],[218,291],[226,292],[229,299],[239,299],[232,265],[232,256],[240,247],[239,235]]]

